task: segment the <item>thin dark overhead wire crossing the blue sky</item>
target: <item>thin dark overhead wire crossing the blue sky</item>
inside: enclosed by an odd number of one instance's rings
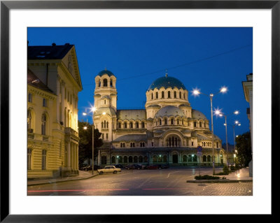
[[[181,66],[187,66],[187,65],[190,65],[190,64],[195,64],[195,63],[198,63],[198,62],[202,62],[202,61],[204,61],[204,60],[207,60],[207,59],[212,59],[212,58],[214,58],[214,57],[219,57],[219,56],[221,56],[221,55],[226,55],[226,54],[228,54],[228,53],[230,53],[230,52],[234,52],[234,51],[237,51],[237,50],[241,50],[241,49],[244,49],[244,48],[248,48],[249,46],[251,46],[251,45],[253,45],[253,44],[248,44],[248,45],[243,45],[243,46],[241,46],[241,47],[239,47],[239,48],[235,48],[235,49],[233,49],[233,50],[229,50],[229,51],[226,51],[226,52],[221,52],[221,53],[219,53],[219,54],[217,54],[217,55],[213,55],[213,56],[210,56],[210,57],[205,57],[205,58],[203,58],[203,59],[197,59],[197,60],[195,60],[195,61],[193,61],[193,62],[188,62],[188,63],[186,63],[186,64],[180,64],[180,65],[178,65],[178,66],[172,66],[172,67],[169,67],[169,68],[167,68],[167,69],[160,69],[160,70],[158,70],[158,71],[153,71],[153,72],[150,72],[150,73],[143,73],[143,74],[140,74],[140,75],[134,75],[134,76],[131,76],[131,77],[129,77],[129,78],[120,78],[120,79],[118,79],[118,81],[121,81],[121,80],[128,80],[128,79],[132,79],[132,78],[139,78],[139,77],[142,77],[142,76],[144,76],[144,75],[151,75],[151,74],[154,74],[154,73],[160,73],[160,72],[163,72],[163,71],[166,71],[166,70],[172,70],[172,69],[176,69],[176,68],[179,68],[179,67],[181,67]],[[88,84],[88,85],[94,85],[94,84]],[[84,85],[84,86],[87,86],[87,85]]]

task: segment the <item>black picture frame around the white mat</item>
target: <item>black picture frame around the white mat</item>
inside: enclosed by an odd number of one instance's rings
[[[158,215],[10,215],[9,212],[9,13],[11,9],[88,9],[88,8],[188,8],[188,9],[271,9],[272,10],[272,148],[276,148],[279,127],[280,78],[280,0],[276,1],[1,1],[1,222],[132,222],[134,220],[158,221]],[[272,150],[272,164],[273,162]],[[272,166],[273,167],[273,166]],[[266,166],[266,168],[269,168]],[[272,168],[273,171],[274,168]],[[273,175],[273,173],[272,173]],[[269,176],[271,177],[271,176]],[[272,180],[273,185],[273,180]],[[273,199],[273,196],[272,196]],[[272,215],[265,217],[272,217]],[[218,220],[216,215],[204,215],[204,220]],[[244,215],[242,217],[245,217]],[[177,217],[176,217],[177,218]],[[134,220],[132,220],[134,219]],[[231,220],[239,220],[232,216]],[[165,221],[174,216],[164,217]],[[161,220],[162,221],[162,220]]]

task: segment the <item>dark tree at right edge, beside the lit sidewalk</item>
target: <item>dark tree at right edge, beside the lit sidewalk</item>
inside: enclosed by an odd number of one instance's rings
[[[237,155],[240,158],[241,164],[248,166],[252,159],[252,149],[251,149],[251,134],[246,132],[237,138],[235,138]]]

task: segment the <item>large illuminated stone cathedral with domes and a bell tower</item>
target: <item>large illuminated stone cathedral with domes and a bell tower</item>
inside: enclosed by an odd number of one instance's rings
[[[145,109],[129,110],[118,110],[116,80],[106,69],[95,77],[93,120],[104,143],[95,152],[101,166],[212,166],[209,120],[190,106],[188,89],[180,80],[166,73],[148,87]],[[222,141],[215,135],[214,153],[216,166],[226,162]]]

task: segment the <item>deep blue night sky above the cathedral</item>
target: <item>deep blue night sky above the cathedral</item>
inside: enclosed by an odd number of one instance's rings
[[[209,121],[209,97],[194,97],[192,89],[210,94],[228,87],[226,94],[214,96],[213,106],[228,115],[228,124],[241,122],[235,135],[249,131],[249,105],[241,82],[253,73],[252,28],[28,28],[27,38],[29,45],[75,45],[83,84],[78,94],[79,120],[94,103],[94,77],[105,67],[117,78],[118,109],[145,108],[146,90],[167,69],[188,89],[190,106]],[[231,115],[235,110],[238,116]],[[214,117],[214,134],[223,143],[224,122]],[[233,144],[230,126],[228,143]]]

